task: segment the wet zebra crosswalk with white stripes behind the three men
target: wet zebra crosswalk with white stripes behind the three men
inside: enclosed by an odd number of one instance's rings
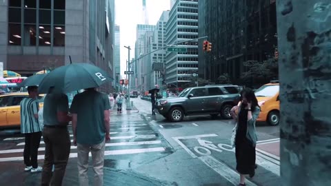
[[[72,129],[69,127],[72,141]],[[88,135],[88,134],[86,134]],[[6,143],[16,143],[11,149],[0,150],[0,162],[23,161],[24,137],[4,138]],[[160,153],[165,151],[165,143],[156,131],[143,119],[141,114],[113,114],[110,117],[110,141],[106,143],[107,156]],[[38,159],[44,158],[45,143],[41,138]],[[70,158],[77,157],[77,147],[72,145]]]

